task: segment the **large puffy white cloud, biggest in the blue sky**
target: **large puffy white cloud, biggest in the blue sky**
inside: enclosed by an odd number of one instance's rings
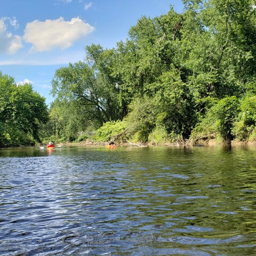
[[[78,17],[70,21],[65,21],[62,17],[57,20],[34,20],[27,23],[23,39],[33,44],[30,52],[66,49],[93,29],[93,26]]]

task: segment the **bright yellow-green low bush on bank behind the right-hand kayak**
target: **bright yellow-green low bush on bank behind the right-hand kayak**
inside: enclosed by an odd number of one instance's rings
[[[114,141],[117,135],[124,132],[126,123],[123,121],[111,121],[104,123],[96,132],[93,139],[95,141]]]

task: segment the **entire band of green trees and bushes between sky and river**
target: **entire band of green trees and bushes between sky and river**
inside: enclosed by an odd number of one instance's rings
[[[55,71],[49,107],[0,71],[0,146],[256,143],[256,6],[183,0]]]

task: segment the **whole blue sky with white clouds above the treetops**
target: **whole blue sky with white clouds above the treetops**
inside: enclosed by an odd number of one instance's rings
[[[49,105],[55,70],[84,59],[86,45],[116,47],[142,15],[166,14],[181,0],[0,0],[0,70],[29,82]]]

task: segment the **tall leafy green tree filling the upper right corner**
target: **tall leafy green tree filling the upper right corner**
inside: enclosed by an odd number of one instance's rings
[[[251,0],[183,1],[182,43],[190,86],[200,96],[239,97],[255,77],[255,9]],[[201,77],[206,77],[203,83]],[[199,79],[198,79],[199,78]],[[211,79],[209,79],[211,78]],[[193,88],[195,87],[195,88]]]

